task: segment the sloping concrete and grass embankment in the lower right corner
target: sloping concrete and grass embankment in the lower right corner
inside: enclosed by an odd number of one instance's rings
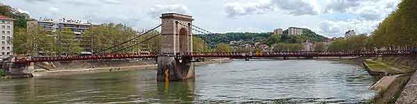
[[[407,97],[409,95],[400,96],[400,94],[402,94],[403,89],[404,91],[407,90],[407,87],[404,86],[414,80],[411,78],[415,71],[412,64],[416,64],[417,61],[412,60],[414,59],[409,57],[386,57],[377,60],[363,60],[363,66],[366,67],[366,70],[371,75],[381,78],[375,85],[370,87],[370,89],[378,93],[377,96],[371,99],[370,103],[395,103],[395,101],[398,102],[403,98],[409,99]],[[408,64],[404,64],[404,61]],[[416,93],[414,94],[414,96],[417,95]]]

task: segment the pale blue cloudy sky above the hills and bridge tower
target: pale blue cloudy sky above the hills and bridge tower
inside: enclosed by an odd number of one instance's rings
[[[290,26],[328,37],[354,29],[370,33],[399,0],[1,0],[39,19],[122,23],[137,29],[160,24],[163,12],[192,15],[213,33],[272,32]]]

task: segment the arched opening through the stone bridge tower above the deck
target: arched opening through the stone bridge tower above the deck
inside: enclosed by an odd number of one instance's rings
[[[188,30],[187,28],[181,28],[179,30],[179,52],[188,52]]]

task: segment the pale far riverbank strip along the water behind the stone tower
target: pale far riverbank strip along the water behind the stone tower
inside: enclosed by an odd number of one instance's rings
[[[231,61],[232,60],[229,60],[229,59],[219,58],[219,59],[211,59],[206,62],[194,62],[194,64],[198,66],[198,65],[203,65],[203,64],[214,64],[214,63],[223,63],[223,62],[231,62]],[[126,62],[124,64],[122,64],[122,62],[123,61],[60,62],[59,65],[55,65],[54,63],[42,63],[42,65],[37,64],[37,69],[35,69],[35,73],[33,73],[33,76],[34,77],[69,76],[69,75],[85,74],[85,73],[157,69],[157,65],[154,64],[154,60],[129,60],[129,61],[124,61]],[[105,63],[105,64],[97,64],[97,63]],[[75,64],[80,64],[83,67],[75,67]],[[44,69],[45,67],[55,67],[55,69]]]

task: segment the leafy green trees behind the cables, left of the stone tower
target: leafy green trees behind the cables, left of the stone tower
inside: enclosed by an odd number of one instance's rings
[[[89,37],[90,44],[92,44],[93,52],[104,51],[104,49],[108,49],[112,46],[116,46],[122,42],[127,40],[133,39],[133,37],[138,36],[140,33],[134,31],[133,28],[124,26],[123,24],[101,24],[99,26],[92,26],[89,31],[86,31],[83,36]],[[132,42],[128,42],[126,44],[122,44],[121,46],[117,46],[111,50],[105,51],[104,53],[110,53],[117,51],[117,53],[132,53],[138,51],[152,51],[158,52],[160,48],[159,40],[160,36],[155,37],[144,44],[139,44],[137,46],[132,46],[131,48],[124,49],[128,46],[136,44],[137,42],[141,42],[142,40],[146,40],[153,35],[158,34],[158,31],[152,31],[147,35],[144,35]],[[87,41],[86,41],[87,42]],[[124,49],[119,51],[120,49]]]

